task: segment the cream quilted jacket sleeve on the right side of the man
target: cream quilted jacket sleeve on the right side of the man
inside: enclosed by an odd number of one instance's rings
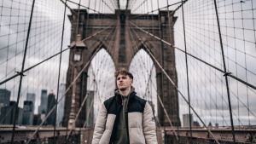
[[[157,144],[154,115],[148,101],[143,112],[143,133],[147,144]]]

